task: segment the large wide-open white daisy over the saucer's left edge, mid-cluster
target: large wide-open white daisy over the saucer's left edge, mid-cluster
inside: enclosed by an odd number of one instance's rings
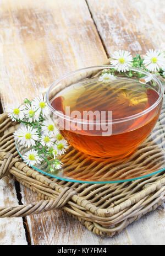
[[[35,145],[35,141],[38,140],[39,136],[37,134],[37,129],[34,129],[30,126],[23,126],[14,132],[14,138],[17,138],[21,145],[30,147]]]

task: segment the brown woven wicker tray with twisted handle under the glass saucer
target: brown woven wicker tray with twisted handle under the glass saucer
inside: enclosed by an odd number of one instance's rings
[[[6,113],[0,115],[0,179],[10,175],[37,193],[42,200],[27,205],[0,207],[0,217],[23,217],[61,207],[88,230],[102,236],[113,236],[165,201],[165,172],[149,178],[105,185],[65,182],[37,172],[26,166],[15,148],[13,132],[17,126]],[[74,161],[69,162],[70,150],[63,159],[72,166]],[[75,156],[79,158],[79,153],[76,152]],[[152,156],[147,156],[149,161]]]

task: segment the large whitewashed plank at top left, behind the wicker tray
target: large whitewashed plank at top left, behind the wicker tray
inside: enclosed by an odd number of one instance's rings
[[[35,97],[66,72],[107,59],[84,0],[3,0],[0,17],[5,109]]]

